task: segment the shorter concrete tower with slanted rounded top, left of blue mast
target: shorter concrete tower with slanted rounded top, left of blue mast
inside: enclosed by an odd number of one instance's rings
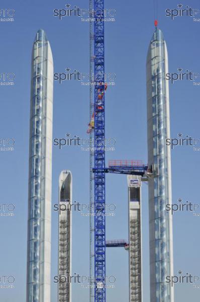
[[[72,248],[72,176],[69,170],[63,170],[59,177],[59,242],[58,276],[65,282],[58,282],[58,302],[71,302],[71,248]],[[66,281],[67,280],[67,281]]]

